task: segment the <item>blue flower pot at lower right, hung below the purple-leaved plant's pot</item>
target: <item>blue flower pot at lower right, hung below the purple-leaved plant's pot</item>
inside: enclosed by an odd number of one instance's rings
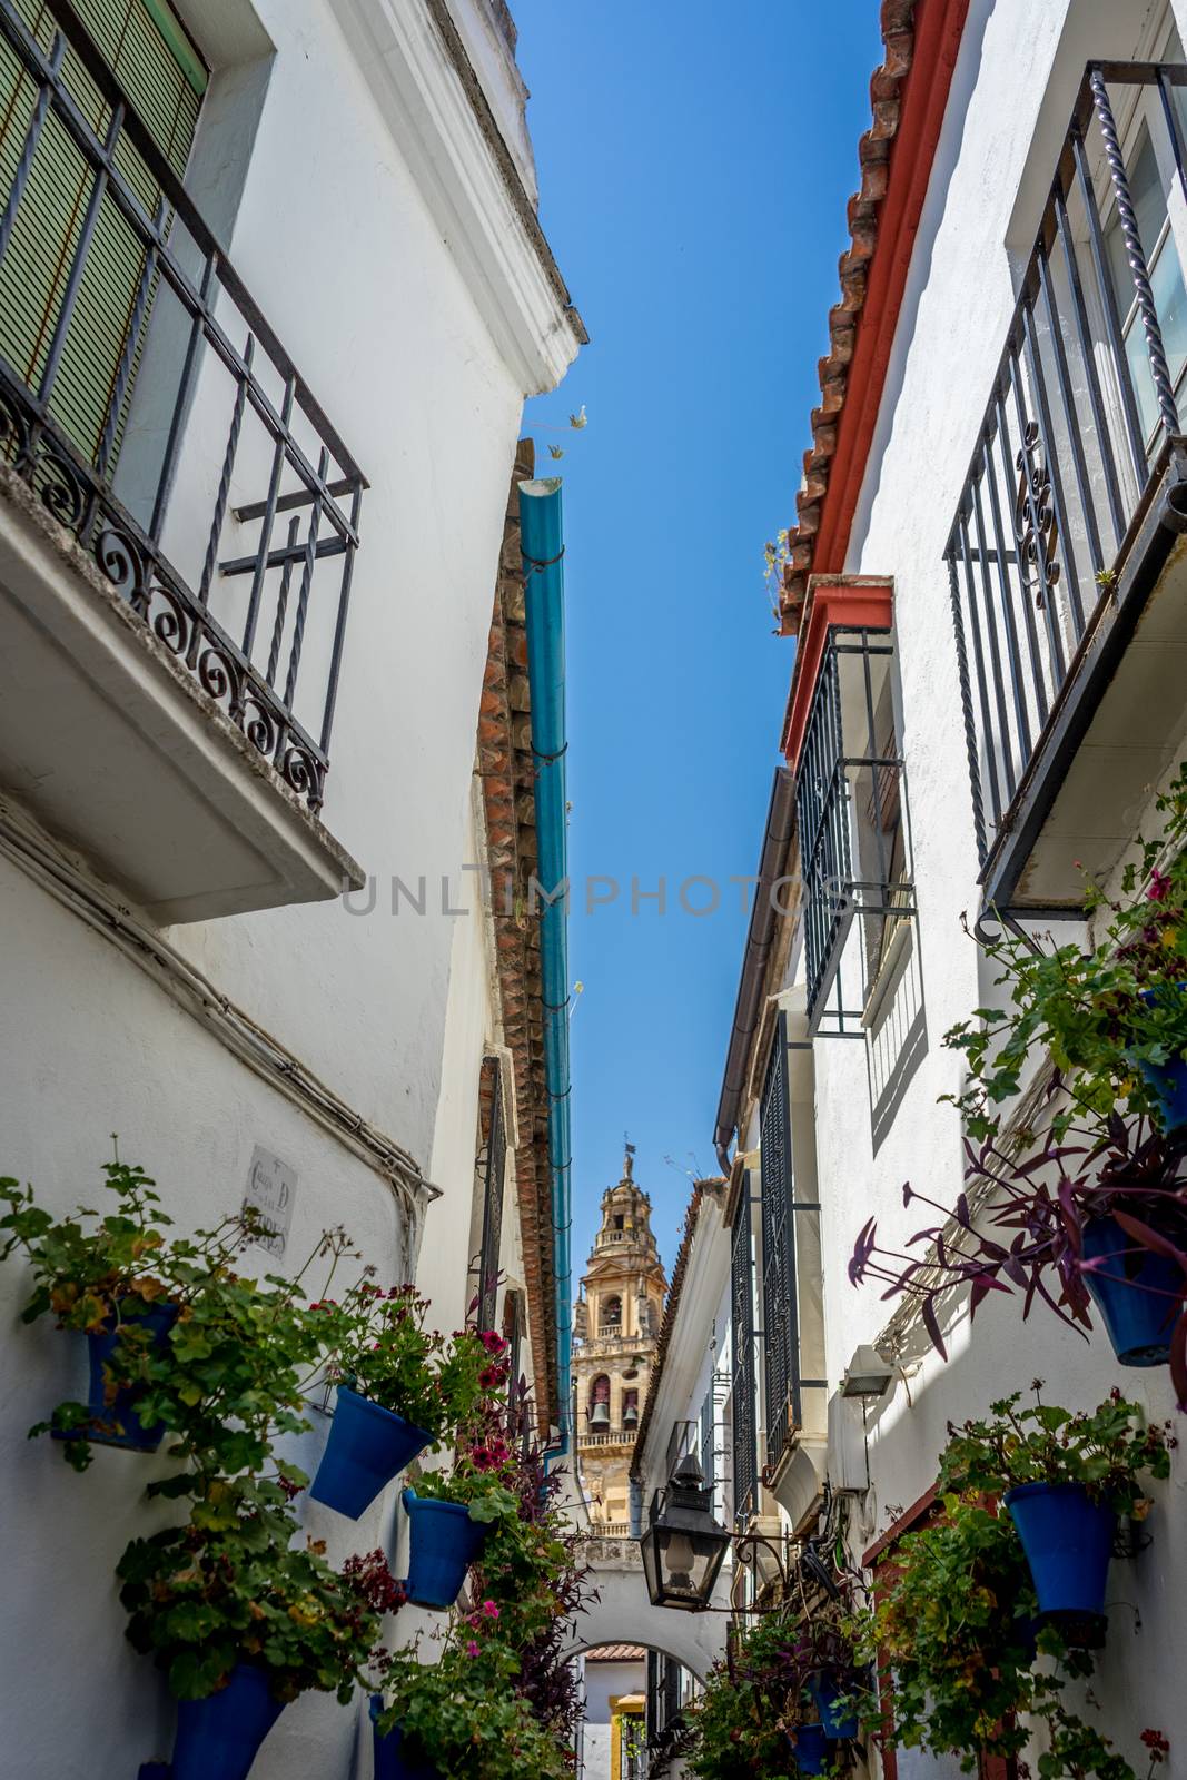
[[[1078,1483],[1021,1483],[1005,1492],[1005,1506],[1030,1565],[1041,1616],[1103,1614],[1114,1511],[1089,1501]]]

